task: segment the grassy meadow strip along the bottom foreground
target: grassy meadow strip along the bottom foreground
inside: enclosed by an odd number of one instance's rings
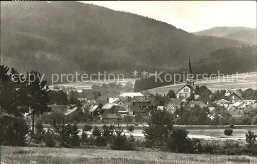
[[[4,163],[256,163],[257,157],[1,146]]]

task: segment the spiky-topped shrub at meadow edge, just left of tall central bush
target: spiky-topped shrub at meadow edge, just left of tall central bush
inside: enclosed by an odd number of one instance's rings
[[[134,149],[134,137],[131,135],[127,138],[123,131],[123,128],[118,124],[118,130],[113,135],[111,140],[111,149],[113,150],[133,150]]]

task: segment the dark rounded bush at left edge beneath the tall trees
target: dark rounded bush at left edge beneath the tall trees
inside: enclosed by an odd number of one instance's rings
[[[24,146],[29,126],[23,118],[1,115],[1,144]]]

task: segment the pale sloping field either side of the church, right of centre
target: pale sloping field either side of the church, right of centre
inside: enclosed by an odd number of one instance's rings
[[[149,89],[150,93],[167,94],[170,89],[177,91],[185,83],[176,83],[166,85],[158,88]],[[225,77],[214,77],[208,80],[199,79],[195,82],[195,85],[206,85],[210,90],[215,91],[217,89],[239,89],[242,90],[247,88],[257,89],[257,72],[251,74],[238,74],[229,75]]]

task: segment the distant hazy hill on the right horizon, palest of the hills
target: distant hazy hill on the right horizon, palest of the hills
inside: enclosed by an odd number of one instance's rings
[[[256,45],[256,28],[248,27],[213,27],[211,29],[193,32],[196,35],[208,35],[244,41]]]

